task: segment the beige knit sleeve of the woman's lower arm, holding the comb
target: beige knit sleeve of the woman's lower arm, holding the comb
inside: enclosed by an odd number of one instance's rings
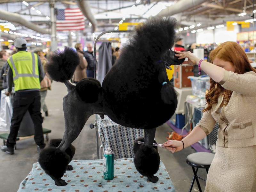
[[[212,129],[215,124],[216,124],[216,121],[212,117],[211,110],[208,110],[208,111],[204,111],[202,118],[200,119],[198,124],[196,124],[196,126],[203,129],[206,135],[209,135],[209,133],[212,132]]]

